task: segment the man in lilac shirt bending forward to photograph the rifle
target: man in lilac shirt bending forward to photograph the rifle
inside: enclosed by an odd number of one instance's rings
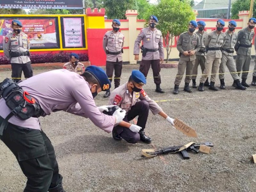
[[[99,67],[89,66],[82,75],[66,69],[52,70],[33,76],[19,85],[40,105],[41,116],[63,110],[89,118],[108,133],[118,124],[127,129],[131,127],[131,124],[122,121],[125,111],[118,109],[113,116],[108,116],[101,113],[108,106],[96,107],[93,98],[98,92],[107,91],[111,87],[108,76]],[[9,90],[8,87],[3,88],[1,86],[0,90]],[[10,148],[28,178],[24,192],[64,192],[54,148],[41,130],[38,118],[21,120],[13,115],[7,120],[12,110],[4,98],[0,99],[0,108],[0,127],[7,123],[5,129],[0,130],[0,139]],[[140,128],[132,126],[131,130],[139,132]]]

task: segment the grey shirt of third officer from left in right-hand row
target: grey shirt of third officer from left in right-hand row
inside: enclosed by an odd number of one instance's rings
[[[221,32],[220,35],[217,35],[216,30],[208,33],[207,38],[205,39],[205,47],[222,47],[226,41],[225,33]],[[221,50],[209,50],[207,52],[207,56],[214,58],[221,58],[222,52]]]

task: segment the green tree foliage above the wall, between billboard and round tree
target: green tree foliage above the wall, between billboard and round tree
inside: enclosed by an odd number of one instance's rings
[[[108,19],[126,19],[125,11],[137,7],[136,0],[104,0],[103,2]]]

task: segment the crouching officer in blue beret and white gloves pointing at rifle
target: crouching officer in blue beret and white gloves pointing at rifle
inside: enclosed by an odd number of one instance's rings
[[[129,122],[138,116],[137,125],[142,127],[140,132],[136,133],[119,124],[114,127],[112,132],[115,140],[122,140],[123,138],[129,143],[137,143],[139,140],[145,143],[151,143],[152,139],[146,136],[144,132],[149,109],[154,115],[159,114],[164,117],[167,122],[174,125],[174,119],[167,116],[156,102],[151,100],[147,93],[142,89],[144,84],[146,84],[145,76],[139,70],[133,70],[128,82],[111,93],[109,104],[117,105],[126,111],[124,121]]]

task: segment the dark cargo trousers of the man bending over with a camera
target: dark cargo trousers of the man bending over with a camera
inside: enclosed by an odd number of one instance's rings
[[[0,116],[0,124],[2,122]],[[62,182],[52,143],[43,131],[9,123],[0,139],[28,178],[24,192],[47,192]]]

